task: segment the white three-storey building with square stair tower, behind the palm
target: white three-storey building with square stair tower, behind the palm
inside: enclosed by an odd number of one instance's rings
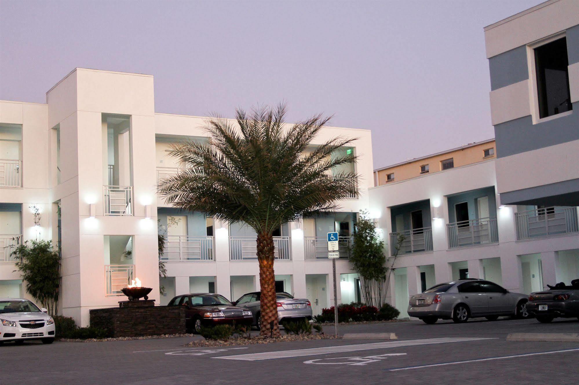
[[[153,76],[138,73],[76,68],[46,93],[46,103],[0,101],[0,297],[27,295],[5,246],[30,239],[60,243],[59,312],[81,325],[89,309],[115,306],[135,277],[160,304],[196,291],[237,299],[259,290],[251,229],[179,212],[156,196],[159,178],[178,167],[168,145],[206,140],[203,121],[156,113]],[[343,151],[360,157],[353,166],[362,176],[360,197],[326,217],[285,224],[275,238],[278,290],[310,298],[314,312],[333,301],[328,231],[343,239],[338,299],[360,296],[347,246],[358,212],[368,208],[371,133],[327,127],[317,140],[339,135],[358,138]],[[157,233],[167,236],[161,280]]]

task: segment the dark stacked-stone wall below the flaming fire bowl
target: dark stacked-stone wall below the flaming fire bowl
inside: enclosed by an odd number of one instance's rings
[[[90,326],[104,328],[112,337],[185,333],[183,306],[142,306],[90,310]]]

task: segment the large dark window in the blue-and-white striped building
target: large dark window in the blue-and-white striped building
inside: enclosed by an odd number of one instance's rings
[[[539,117],[570,111],[573,108],[569,92],[567,39],[555,40],[534,51]]]

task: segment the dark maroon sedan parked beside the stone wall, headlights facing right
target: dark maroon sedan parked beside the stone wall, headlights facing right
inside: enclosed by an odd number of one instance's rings
[[[199,333],[201,326],[236,324],[251,326],[253,316],[247,309],[233,306],[223,295],[214,293],[192,293],[177,295],[167,306],[186,306],[187,330]]]

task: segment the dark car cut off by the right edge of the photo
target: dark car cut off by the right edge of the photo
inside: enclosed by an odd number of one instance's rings
[[[537,321],[549,323],[556,317],[579,317],[579,279],[572,280],[571,286],[563,282],[547,286],[549,290],[529,295],[527,311],[534,314]]]

